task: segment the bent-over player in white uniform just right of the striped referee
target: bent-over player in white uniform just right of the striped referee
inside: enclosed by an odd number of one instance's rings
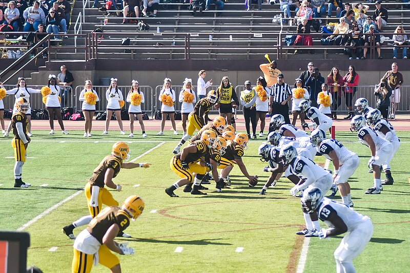
[[[323,132],[326,132],[332,127],[333,120],[320,112],[316,107],[311,107],[309,100],[304,99],[299,102],[299,109],[301,113],[306,112],[306,117],[313,121],[310,123],[303,122],[301,124],[303,129],[317,128],[323,130]]]

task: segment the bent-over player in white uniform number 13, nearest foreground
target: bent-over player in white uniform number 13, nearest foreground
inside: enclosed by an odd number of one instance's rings
[[[322,228],[319,238],[338,236],[345,233],[340,245],[336,248],[336,272],[356,272],[353,259],[366,247],[372,238],[373,224],[370,218],[355,212],[346,205],[323,197],[319,188],[312,188],[303,193],[302,211],[319,216],[329,228]]]

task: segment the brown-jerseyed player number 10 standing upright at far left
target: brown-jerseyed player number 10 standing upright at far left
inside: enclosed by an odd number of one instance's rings
[[[30,108],[27,99],[21,97],[16,100],[17,113],[11,117],[14,138],[11,145],[14,149],[16,163],[14,165],[14,187],[29,187],[31,184],[22,181],[22,169],[26,162],[27,146],[31,139],[27,135],[28,119],[26,112]]]

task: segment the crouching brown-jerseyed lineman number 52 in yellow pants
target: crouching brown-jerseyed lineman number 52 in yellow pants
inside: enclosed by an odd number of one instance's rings
[[[215,140],[215,131],[206,130],[202,133],[200,140],[190,143],[182,149],[182,152],[171,158],[171,170],[181,177],[181,179],[165,189],[165,192],[169,196],[178,197],[174,194],[174,191],[178,187],[190,184],[192,182],[194,185],[192,187],[191,194],[206,195],[206,193],[199,191],[201,189],[201,181],[207,173],[207,166],[211,166],[210,163],[205,162],[204,158],[208,155],[210,149],[214,147]],[[184,190],[184,192],[187,192],[188,190],[189,186]]]

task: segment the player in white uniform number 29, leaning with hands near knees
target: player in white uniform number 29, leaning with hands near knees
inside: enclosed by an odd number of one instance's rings
[[[343,204],[353,207],[350,185],[347,180],[354,174],[359,166],[359,157],[346,149],[342,143],[335,139],[326,138],[326,134],[316,129],[311,134],[312,143],[316,145],[319,154],[332,161],[335,167],[333,185],[340,191]],[[337,191],[332,190],[336,194]],[[331,195],[335,195],[331,194]]]

